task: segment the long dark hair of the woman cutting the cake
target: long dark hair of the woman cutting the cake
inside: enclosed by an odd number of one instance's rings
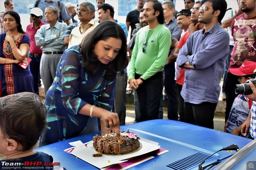
[[[94,75],[99,67],[97,55],[93,54],[93,46],[100,40],[108,38],[118,38],[122,41],[121,49],[116,58],[106,65],[105,78],[113,80],[116,78],[116,72],[121,71],[128,65],[127,58],[127,40],[123,28],[114,21],[103,21],[91,33],[86,35],[81,43],[81,54],[83,55],[83,64],[85,71],[89,75]]]

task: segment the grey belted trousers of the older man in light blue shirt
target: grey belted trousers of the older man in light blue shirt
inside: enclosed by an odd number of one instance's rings
[[[40,76],[44,84],[44,92],[52,85],[56,76],[56,70],[62,54],[42,54],[40,62]]]

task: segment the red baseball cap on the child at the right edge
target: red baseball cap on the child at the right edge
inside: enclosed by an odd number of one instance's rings
[[[245,76],[253,74],[256,69],[256,62],[245,61],[239,68],[229,69],[229,71],[236,76]]]

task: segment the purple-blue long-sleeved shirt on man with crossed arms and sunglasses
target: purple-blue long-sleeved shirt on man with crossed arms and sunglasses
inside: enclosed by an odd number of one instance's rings
[[[228,53],[229,34],[219,23],[205,34],[202,29],[190,35],[177,58],[180,67],[189,62],[197,69],[185,71],[185,83],[180,92],[185,102],[218,103],[220,80]]]

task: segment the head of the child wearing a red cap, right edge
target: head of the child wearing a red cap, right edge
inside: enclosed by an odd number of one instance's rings
[[[253,71],[256,69],[256,63],[253,61],[245,61],[239,68],[229,69],[230,72],[236,76],[239,76],[238,81],[240,84],[245,83],[255,76]]]

